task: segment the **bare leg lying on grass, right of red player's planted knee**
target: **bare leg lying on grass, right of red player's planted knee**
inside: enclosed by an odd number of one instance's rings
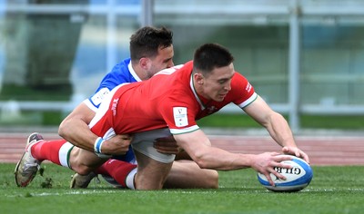
[[[217,170],[198,167],[192,160],[175,160],[163,188],[217,189]]]

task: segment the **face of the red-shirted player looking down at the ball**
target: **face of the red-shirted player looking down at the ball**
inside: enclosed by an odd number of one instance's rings
[[[203,95],[205,98],[222,102],[231,90],[231,79],[235,71],[233,63],[215,68],[212,73],[203,77]]]

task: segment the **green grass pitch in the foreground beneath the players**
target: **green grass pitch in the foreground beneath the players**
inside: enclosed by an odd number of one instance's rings
[[[43,164],[27,188],[14,183],[15,164],[0,164],[1,213],[362,213],[364,167],[314,166],[307,189],[265,190],[253,170],[221,171],[218,190],[136,191],[111,188],[101,179],[87,190],[70,190],[71,170]],[[51,188],[42,188],[51,179]]]

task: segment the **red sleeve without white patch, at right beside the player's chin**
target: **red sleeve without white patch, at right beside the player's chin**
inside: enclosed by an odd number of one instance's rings
[[[230,93],[230,92],[229,92]],[[233,101],[240,108],[245,108],[251,102],[254,102],[258,94],[254,91],[254,87],[240,73],[235,73],[231,81],[231,94]]]

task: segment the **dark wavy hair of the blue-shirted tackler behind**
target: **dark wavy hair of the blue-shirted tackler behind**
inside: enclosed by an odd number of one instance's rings
[[[158,49],[172,45],[173,34],[165,27],[145,26],[130,37],[130,58],[132,61],[142,57],[157,56]]]

